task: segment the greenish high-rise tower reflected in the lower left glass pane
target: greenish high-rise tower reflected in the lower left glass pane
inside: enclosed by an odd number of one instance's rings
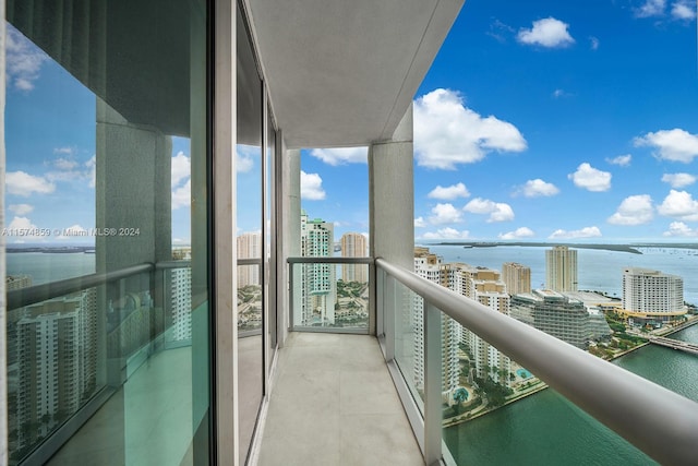
[[[16,425],[20,447],[33,444],[96,387],[95,288],[29,306],[17,322]]]

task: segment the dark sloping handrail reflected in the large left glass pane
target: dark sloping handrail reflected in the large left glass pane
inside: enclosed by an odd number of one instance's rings
[[[152,272],[153,270],[155,270],[155,264],[147,262],[144,264],[119,268],[117,271],[82,275],[79,277],[14,289],[12,291],[8,291],[7,309],[12,310],[24,308],[25,306],[36,304],[37,302],[46,301],[47,299],[58,298],[59,296],[70,295],[71,292],[77,292],[87,288],[94,288],[106,283],[116,282],[145,272]]]

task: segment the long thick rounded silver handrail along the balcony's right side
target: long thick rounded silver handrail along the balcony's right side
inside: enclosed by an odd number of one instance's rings
[[[698,403],[414,273],[376,266],[661,464],[696,464]]]

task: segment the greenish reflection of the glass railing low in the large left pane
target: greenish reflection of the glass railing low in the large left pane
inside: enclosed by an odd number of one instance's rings
[[[186,261],[9,291],[10,464],[65,464],[94,444],[101,464],[184,458],[191,297]]]

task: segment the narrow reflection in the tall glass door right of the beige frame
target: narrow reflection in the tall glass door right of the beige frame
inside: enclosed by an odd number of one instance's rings
[[[264,380],[264,104],[262,81],[240,8],[237,9],[237,225],[238,235],[238,392],[240,463],[248,457]]]

